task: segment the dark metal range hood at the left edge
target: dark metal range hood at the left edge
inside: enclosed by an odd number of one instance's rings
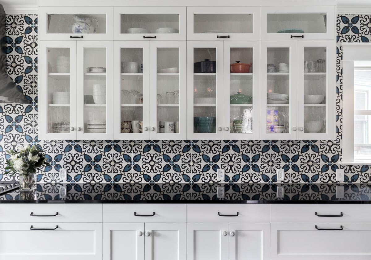
[[[30,104],[30,100],[19,90],[17,84],[7,74],[6,69],[6,13],[0,4],[0,103]]]

